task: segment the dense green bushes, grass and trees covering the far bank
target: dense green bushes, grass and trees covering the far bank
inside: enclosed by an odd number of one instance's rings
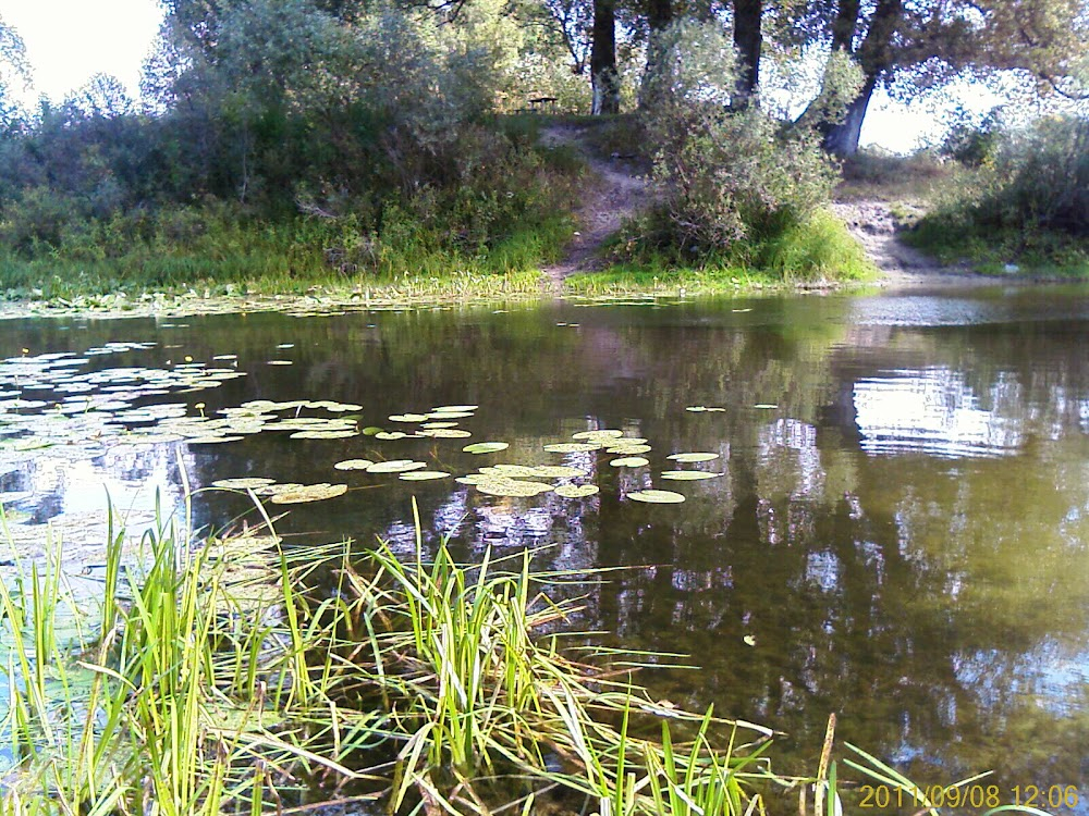
[[[613,260],[656,277],[859,276],[865,259],[822,212],[839,177],[824,149],[857,148],[880,82],[910,96],[1002,69],[1067,96],[1081,87],[1077,2],[1031,0],[1024,36],[1008,4],[963,5],[168,0],[139,103],[98,76],[33,113],[13,101],[26,64],[0,21],[2,289],[298,290],[518,272],[533,287],[589,183],[577,151],[540,147],[542,118],[519,113],[540,95],[565,111],[635,111],[619,121],[652,166],[657,203]],[[827,61],[807,94],[799,69],[815,53]],[[995,151],[988,189],[1032,178],[1059,129]],[[1084,169],[1072,138],[1056,149]],[[996,195],[962,207],[964,219],[1041,225],[1036,205],[1015,217]],[[1084,223],[1084,205],[1062,218]]]

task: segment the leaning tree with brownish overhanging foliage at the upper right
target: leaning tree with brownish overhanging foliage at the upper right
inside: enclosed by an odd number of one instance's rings
[[[957,76],[1017,71],[1062,89],[1086,38],[1081,0],[816,0],[798,23],[810,44],[849,54],[865,74],[842,121],[824,126],[825,147],[840,156],[858,149],[881,84],[910,98]]]

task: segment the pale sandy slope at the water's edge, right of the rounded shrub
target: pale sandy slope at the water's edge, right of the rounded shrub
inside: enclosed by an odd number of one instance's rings
[[[943,265],[896,237],[898,224],[885,201],[836,201],[832,210],[881,270],[889,287],[994,284],[967,265]]]

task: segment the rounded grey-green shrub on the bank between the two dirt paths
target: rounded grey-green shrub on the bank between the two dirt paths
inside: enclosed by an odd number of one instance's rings
[[[732,110],[735,76],[718,27],[683,21],[663,36],[647,126],[658,148],[659,240],[680,250],[743,251],[780,235],[828,201],[839,177],[813,125]]]

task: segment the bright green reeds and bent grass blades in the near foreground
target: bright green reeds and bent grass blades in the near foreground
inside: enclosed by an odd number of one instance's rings
[[[535,572],[529,552],[462,566],[417,544],[406,564],[381,543],[161,529],[134,557],[122,541],[94,617],[58,560],[0,585],[4,814],[841,806],[831,728],[813,778],[782,776],[770,729],[654,702],[633,670],[663,656],[574,633],[578,588],[605,576]]]

